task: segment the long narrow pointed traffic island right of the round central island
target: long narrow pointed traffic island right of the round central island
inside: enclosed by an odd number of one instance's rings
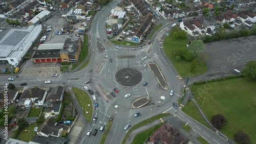
[[[159,83],[160,87],[163,88],[164,90],[168,90],[167,82],[158,65],[155,62],[148,63],[147,65],[150,68],[154,77],[156,78],[157,82]]]

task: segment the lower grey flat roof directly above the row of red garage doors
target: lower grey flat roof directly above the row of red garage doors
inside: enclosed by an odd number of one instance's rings
[[[60,58],[59,49],[55,50],[36,50],[33,59],[38,58]]]

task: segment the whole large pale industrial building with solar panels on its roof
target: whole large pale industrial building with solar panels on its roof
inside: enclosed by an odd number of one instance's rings
[[[21,62],[41,31],[41,25],[10,29],[0,40],[0,61],[8,61],[9,64]]]

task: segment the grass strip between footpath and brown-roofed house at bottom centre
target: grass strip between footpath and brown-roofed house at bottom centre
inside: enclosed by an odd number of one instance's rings
[[[163,123],[158,124],[154,127],[151,127],[149,129],[146,129],[146,130],[136,134],[133,139],[132,144],[144,143],[148,139],[148,137],[150,137],[162,125],[163,125]]]

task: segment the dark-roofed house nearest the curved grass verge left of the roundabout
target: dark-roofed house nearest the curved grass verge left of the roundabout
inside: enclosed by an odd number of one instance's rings
[[[44,104],[45,107],[50,107],[51,112],[55,115],[58,115],[60,112],[62,100],[64,95],[64,87],[56,86],[52,87],[47,94],[46,103]]]

